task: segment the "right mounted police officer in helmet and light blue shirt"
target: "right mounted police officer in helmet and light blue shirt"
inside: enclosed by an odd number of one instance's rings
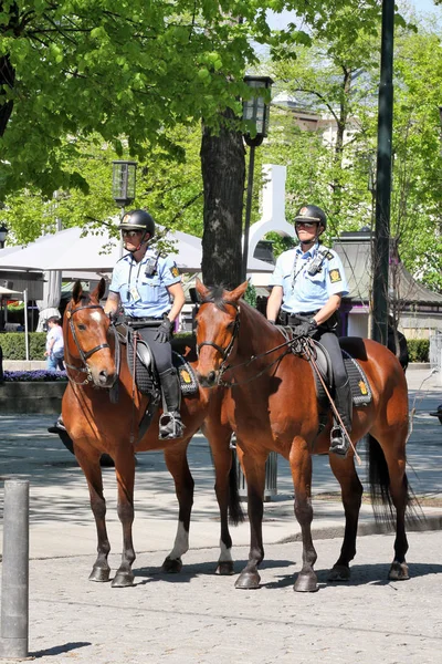
[[[283,324],[296,335],[309,335],[320,341],[330,356],[334,372],[335,403],[347,432],[351,430],[351,392],[337,336],[337,310],[348,293],[343,263],[335,251],[320,245],[327,228],[325,212],[316,205],[306,205],[295,217],[299,245],[284,251],[277,259],[267,301],[267,319],[275,323],[280,309]],[[302,317],[302,318],[299,318]],[[330,452],[346,455],[349,447],[340,425],[335,422]]]

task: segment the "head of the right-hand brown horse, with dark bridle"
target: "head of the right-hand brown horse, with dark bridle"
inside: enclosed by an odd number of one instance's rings
[[[232,291],[222,287],[212,289],[197,279],[201,299],[196,317],[198,364],[197,375],[203,387],[213,387],[222,376],[227,362],[235,352],[240,325],[240,299],[248,282]]]

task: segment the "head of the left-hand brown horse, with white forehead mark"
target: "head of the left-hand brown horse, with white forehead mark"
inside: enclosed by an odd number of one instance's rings
[[[99,304],[104,292],[104,279],[90,295],[83,292],[81,281],[76,281],[64,313],[66,371],[70,380],[80,385],[92,381],[97,387],[112,387],[116,380],[114,354],[108,343],[110,321]],[[82,373],[87,374],[84,381],[77,380]]]

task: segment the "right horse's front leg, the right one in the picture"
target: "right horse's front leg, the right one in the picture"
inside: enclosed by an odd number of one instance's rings
[[[313,567],[317,554],[312,539],[312,457],[304,440],[295,438],[293,442],[290,465],[295,488],[295,517],[303,538],[303,568],[293,589],[296,592],[316,592],[317,577]]]

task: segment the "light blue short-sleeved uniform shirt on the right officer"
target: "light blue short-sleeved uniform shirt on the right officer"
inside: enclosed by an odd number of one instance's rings
[[[319,272],[308,274],[308,266],[317,252],[326,251]],[[284,251],[276,260],[270,286],[283,287],[282,310],[288,313],[317,311],[330,295],[348,293],[340,258],[333,249],[316,243],[303,253],[301,246]]]

